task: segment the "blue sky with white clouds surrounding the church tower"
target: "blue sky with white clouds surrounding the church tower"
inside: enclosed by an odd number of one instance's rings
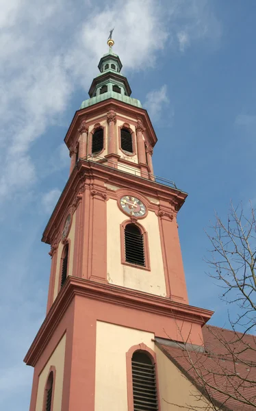
[[[255,202],[255,0],[1,1],[0,408],[27,411],[23,357],[44,319],[49,246],[40,242],[68,177],[63,139],[114,51],[158,137],[155,174],[189,193],[179,234],[190,303],[227,324],[205,275],[203,229],[229,201]]]

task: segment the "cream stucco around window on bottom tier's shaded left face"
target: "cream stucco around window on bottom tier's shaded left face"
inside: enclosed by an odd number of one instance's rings
[[[65,346],[66,346],[66,334],[60,340],[53,351],[49,361],[44,366],[42,373],[40,373],[38,380],[38,393],[36,398],[36,411],[42,411],[42,405],[44,401],[44,388],[47,383],[47,377],[49,375],[49,369],[51,366],[55,366],[55,386],[54,386],[54,396],[53,396],[53,410],[60,411],[62,408],[62,388],[63,388],[63,377],[64,377],[64,356],[65,356]]]

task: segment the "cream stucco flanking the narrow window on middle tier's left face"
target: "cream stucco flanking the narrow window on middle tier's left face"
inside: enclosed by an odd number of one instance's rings
[[[76,218],[76,211],[73,214],[73,219],[71,223],[71,229],[68,233],[68,240],[70,240],[69,248],[68,248],[68,275],[72,275],[73,271],[73,260],[74,260],[74,243],[75,243],[75,218]],[[56,262],[56,273],[55,273],[55,284],[54,284],[54,292],[53,292],[53,301],[57,297],[57,293],[59,290],[60,284],[60,264],[62,258],[62,250],[63,250],[62,242],[59,242],[57,247],[57,262]]]

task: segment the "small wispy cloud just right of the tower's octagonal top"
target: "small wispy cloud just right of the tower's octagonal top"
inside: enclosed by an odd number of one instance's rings
[[[146,101],[144,103],[144,107],[146,110],[149,112],[149,116],[151,116],[152,120],[159,120],[162,114],[162,110],[166,108],[170,103],[170,100],[168,98],[167,94],[167,86],[164,84],[159,90],[153,90],[148,92],[146,95]],[[169,109],[169,114],[168,118],[170,117],[170,112],[171,115],[173,116],[172,109]]]

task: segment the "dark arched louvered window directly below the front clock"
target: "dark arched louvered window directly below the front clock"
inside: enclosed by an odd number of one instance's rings
[[[125,226],[125,261],[146,266],[143,234],[139,227],[132,223]]]

